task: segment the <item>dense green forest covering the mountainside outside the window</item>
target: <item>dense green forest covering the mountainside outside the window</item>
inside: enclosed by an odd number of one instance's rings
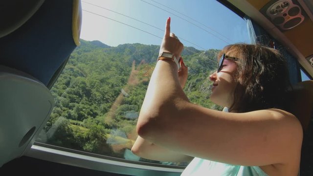
[[[138,159],[129,155],[129,149],[137,137],[135,125],[158,51],[158,45],[112,47],[99,41],[81,40],[51,88],[56,105],[37,141]],[[209,99],[212,83],[208,76],[216,69],[212,60],[216,61],[218,52],[185,47],[182,57],[188,66],[184,91],[189,100],[221,110]]]

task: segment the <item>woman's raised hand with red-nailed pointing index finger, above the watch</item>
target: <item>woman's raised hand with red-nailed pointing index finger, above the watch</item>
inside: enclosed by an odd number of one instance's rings
[[[183,44],[179,41],[178,37],[175,36],[175,34],[170,33],[171,31],[170,23],[171,18],[169,17],[166,20],[165,34],[160,46],[159,53],[162,53],[163,51],[172,52],[176,58],[179,58],[181,51],[183,49]]]

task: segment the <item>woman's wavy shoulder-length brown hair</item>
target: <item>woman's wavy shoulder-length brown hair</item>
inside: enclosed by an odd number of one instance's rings
[[[234,102],[229,110],[248,112],[277,108],[288,110],[287,88],[291,85],[285,58],[278,50],[260,44],[231,44],[220,56],[232,50],[236,61]]]

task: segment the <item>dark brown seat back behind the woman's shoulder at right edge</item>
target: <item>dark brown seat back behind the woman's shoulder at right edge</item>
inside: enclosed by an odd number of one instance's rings
[[[291,113],[301,122],[306,131],[313,112],[313,81],[303,81],[292,86],[289,91],[291,98]]]

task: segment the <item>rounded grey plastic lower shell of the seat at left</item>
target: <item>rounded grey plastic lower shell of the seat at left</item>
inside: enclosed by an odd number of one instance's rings
[[[0,167],[22,156],[50,117],[48,88],[22,71],[0,65]]]

